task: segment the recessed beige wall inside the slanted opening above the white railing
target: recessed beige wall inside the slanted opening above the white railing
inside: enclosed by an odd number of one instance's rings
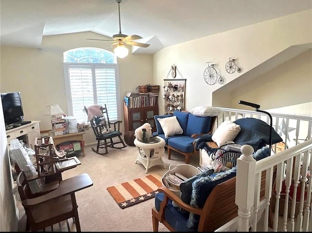
[[[234,108],[253,110],[239,105],[241,99],[258,103],[261,109],[274,108],[275,112],[276,108],[312,102],[312,49],[241,85],[231,99]],[[311,113],[309,108],[306,111],[301,113]]]

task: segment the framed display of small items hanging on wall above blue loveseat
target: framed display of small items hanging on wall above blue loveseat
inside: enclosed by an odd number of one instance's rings
[[[184,110],[186,79],[164,79],[162,98],[164,99],[165,115],[175,110]]]

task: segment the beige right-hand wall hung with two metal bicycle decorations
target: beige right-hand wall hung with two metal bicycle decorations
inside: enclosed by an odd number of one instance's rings
[[[166,78],[171,65],[176,64],[182,76],[187,79],[185,96],[186,110],[190,110],[199,105],[212,105],[212,93],[223,85],[245,74],[248,78],[257,78],[254,77],[252,70],[259,64],[273,58],[292,45],[311,43],[311,15],[312,10],[303,11],[286,17],[268,20],[164,48],[153,57],[154,83],[163,86],[164,78]],[[228,74],[225,71],[225,63],[230,57],[236,59],[235,61],[239,67],[242,68],[241,73],[235,72],[233,74]],[[309,55],[306,55],[305,58],[309,59]],[[225,78],[225,83],[223,85],[218,83],[215,85],[208,85],[204,81],[203,73],[207,68],[207,61],[215,63],[219,74]],[[306,62],[309,62],[309,60],[304,61],[305,64],[307,64]],[[298,63],[300,63],[300,60]],[[304,65],[305,67],[301,67],[301,65],[298,66],[299,67],[296,67],[296,69],[307,69],[306,65]],[[275,71],[275,75],[276,72],[278,71]],[[274,74],[271,77],[274,78],[273,76]],[[181,77],[178,74],[176,78]],[[290,77],[287,76],[287,78]],[[270,81],[271,80],[268,80],[268,82]],[[282,86],[286,85],[286,82],[282,84]],[[292,84],[293,83],[292,81]],[[277,85],[277,81],[274,81],[272,84]],[[307,85],[311,86],[311,83],[307,83]],[[289,92],[285,91],[282,86],[278,88],[279,93],[276,94],[280,98],[289,95]],[[309,88],[306,87],[304,90],[306,91],[307,89]],[[163,89],[161,91],[163,91]],[[274,89],[271,88],[271,91],[274,91]],[[246,92],[246,90],[240,88],[237,92]],[[251,92],[248,94],[249,96],[256,95]],[[257,95],[261,96],[261,93]],[[311,92],[306,92],[306,95],[311,97],[312,94]],[[224,105],[219,107],[232,107],[232,104],[236,102],[236,100],[231,101],[231,92],[221,93],[218,97],[222,98],[224,100],[223,102],[228,103],[228,106]],[[303,100],[301,97],[302,95],[293,95],[292,102],[302,103],[302,101],[306,101],[307,98]],[[261,99],[261,101],[268,100]],[[268,108],[277,107],[275,104],[281,105],[281,103],[273,102],[270,105],[268,104]],[[283,104],[287,103],[283,102]],[[159,109],[160,113],[163,112],[163,101],[159,101]]]

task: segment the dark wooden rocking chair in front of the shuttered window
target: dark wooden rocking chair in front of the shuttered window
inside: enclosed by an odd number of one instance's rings
[[[109,120],[106,104],[104,104],[104,107],[101,106],[100,110],[102,111],[103,117],[93,116],[92,119],[90,120],[91,127],[98,141],[97,149],[92,148],[92,150],[99,155],[105,155],[108,153],[107,150],[108,147],[116,149],[125,148],[127,145],[121,138],[122,133],[120,132],[120,123],[122,121]],[[83,111],[86,112],[86,114],[88,115],[88,109],[86,106],[84,106]],[[111,126],[113,126],[113,128],[111,128]],[[105,132],[108,129],[112,129],[112,132]],[[117,140],[114,141],[113,139],[115,138],[117,138]],[[122,146],[118,147],[115,146],[116,144],[119,143],[122,144]],[[101,153],[99,152],[99,149],[105,149],[105,152]]]

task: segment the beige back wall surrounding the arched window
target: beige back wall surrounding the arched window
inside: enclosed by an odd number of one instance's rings
[[[86,40],[102,38],[96,33],[74,33],[43,37],[44,49],[1,47],[1,89],[20,91],[26,120],[40,120],[40,130],[51,129],[50,117],[44,116],[45,106],[58,103],[67,114],[63,52],[78,47],[98,47],[111,50],[110,41]],[[131,51],[131,48],[129,48]],[[123,97],[136,91],[140,84],[153,83],[152,55],[129,55],[117,58],[120,75],[120,112],[123,120]],[[81,107],[81,109],[83,106]],[[122,124],[121,130],[124,130]],[[85,135],[86,144],[95,141],[92,131]]]

